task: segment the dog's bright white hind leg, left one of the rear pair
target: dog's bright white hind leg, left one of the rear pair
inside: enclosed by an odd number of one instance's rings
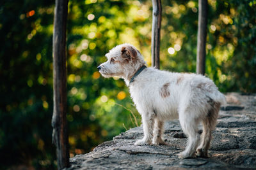
[[[188,136],[188,144],[186,149],[179,153],[179,157],[183,159],[196,157],[195,151],[200,140],[200,136],[197,132],[198,120],[193,117],[193,113],[189,113],[187,111],[180,114],[179,120],[182,130]]]

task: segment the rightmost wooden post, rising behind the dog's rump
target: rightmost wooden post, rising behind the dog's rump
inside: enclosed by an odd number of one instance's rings
[[[197,31],[197,52],[196,52],[196,73],[205,74],[205,44],[206,44],[206,27],[207,27],[207,0],[198,0],[198,31]]]

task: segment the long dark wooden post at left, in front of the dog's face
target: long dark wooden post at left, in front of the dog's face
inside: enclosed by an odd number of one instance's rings
[[[52,143],[56,145],[58,169],[69,167],[67,133],[66,30],[68,0],[56,0],[54,9]]]

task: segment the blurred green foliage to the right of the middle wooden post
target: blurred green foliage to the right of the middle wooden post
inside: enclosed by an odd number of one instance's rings
[[[161,66],[195,72],[197,1],[163,3]],[[223,92],[256,92],[255,7],[255,1],[209,1],[206,74]]]

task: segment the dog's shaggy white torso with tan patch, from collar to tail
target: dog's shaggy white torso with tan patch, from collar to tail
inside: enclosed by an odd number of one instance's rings
[[[130,85],[134,103],[141,107],[154,108],[164,119],[179,118],[179,110],[193,105],[209,110],[209,102],[223,104],[225,96],[218,91],[212,80],[189,73],[172,73],[148,67]],[[196,106],[197,105],[197,106]],[[202,110],[202,109],[201,109]],[[199,115],[198,115],[199,116]]]

